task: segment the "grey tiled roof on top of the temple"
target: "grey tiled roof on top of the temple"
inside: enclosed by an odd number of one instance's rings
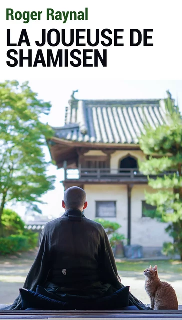
[[[163,100],[70,100],[55,137],[78,142],[136,144],[144,125],[166,122]]]

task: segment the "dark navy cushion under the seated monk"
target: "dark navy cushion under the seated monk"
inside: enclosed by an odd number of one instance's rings
[[[113,294],[98,299],[85,301],[80,298],[75,302],[63,302],[46,297],[37,292],[20,289],[22,308],[39,308],[42,310],[112,310],[129,305],[129,286],[125,286]]]

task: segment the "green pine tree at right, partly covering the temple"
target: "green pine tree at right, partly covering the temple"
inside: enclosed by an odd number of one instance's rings
[[[141,149],[148,155],[148,159],[139,162],[139,167],[148,175],[148,184],[158,190],[145,194],[146,202],[157,207],[148,216],[169,222],[165,230],[173,242],[164,243],[163,251],[178,253],[182,260],[182,117],[169,91],[167,94],[166,123],[156,128],[146,126],[139,138]]]

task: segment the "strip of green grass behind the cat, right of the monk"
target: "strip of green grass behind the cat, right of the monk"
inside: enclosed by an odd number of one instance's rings
[[[180,273],[182,275],[182,261],[179,260],[151,260],[151,261],[121,261],[116,262],[118,271],[143,272],[149,265],[158,266],[160,273]]]

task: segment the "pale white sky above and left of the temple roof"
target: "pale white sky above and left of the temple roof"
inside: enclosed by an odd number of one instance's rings
[[[26,78],[17,79],[20,83]],[[0,79],[3,82],[4,79]],[[166,91],[170,90],[175,102],[182,112],[182,81],[180,80],[119,80],[118,78],[97,78],[97,79],[45,79],[31,78],[29,85],[34,92],[38,93],[38,98],[50,101],[51,112],[48,116],[43,115],[41,120],[48,122],[52,127],[64,125],[65,107],[68,106],[73,90],[77,99],[162,99],[166,97]],[[45,147],[46,160],[50,160],[50,153]],[[39,205],[43,215],[59,217],[63,213],[61,201],[64,189],[60,183],[63,180],[63,170],[57,170],[55,165],[50,165],[48,174],[56,175],[55,189],[48,191],[42,196],[46,204]],[[10,205],[8,205],[10,207]],[[12,207],[21,216],[25,214],[25,205],[14,205]]]

